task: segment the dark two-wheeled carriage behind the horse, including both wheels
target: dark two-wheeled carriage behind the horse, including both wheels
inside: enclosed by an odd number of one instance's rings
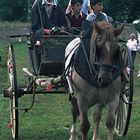
[[[76,38],[76,35],[47,35],[42,36],[43,45],[38,47],[32,34],[11,35],[10,39],[24,37],[28,40],[29,68],[23,68],[28,75],[28,83],[18,86],[16,74],[16,61],[14,45],[9,43],[8,47],[8,79],[9,86],[4,90],[4,97],[10,100],[10,127],[13,139],[18,139],[19,129],[19,98],[26,94],[49,93],[63,94],[66,92],[65,80],[63,79],[65,48],[67,44]],[[122,40],[119,41],[121,54],[124,61],[125,82],[122,83],[122,93],[119,107],[116,112],[115,132],[119,136],[125,136],[128,131],[132,100],[133,100],[133,65],[130,51]],[[39,87],[39,88],[38,88]],[[41,87],[41,88],[40,88]],[[33,106],[33,104],[32,104]],[[25,108],[28,111],[32,108]]]

